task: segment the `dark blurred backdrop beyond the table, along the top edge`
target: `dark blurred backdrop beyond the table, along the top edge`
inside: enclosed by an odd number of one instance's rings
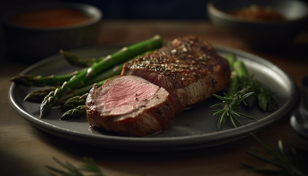
[[[1,0],[0,13],[49,1],[92,4],[102,10],[104,19],[207,20],[208,0]]]

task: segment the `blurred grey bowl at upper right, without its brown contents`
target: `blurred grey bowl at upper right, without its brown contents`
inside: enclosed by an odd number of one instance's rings
[[[231,14],[251,5],[272,9],[285,20],[245,19]],[[259,49],[287,46],[308,24],[308,6],[300,0],[213,0],[207,10],[213,24]]]

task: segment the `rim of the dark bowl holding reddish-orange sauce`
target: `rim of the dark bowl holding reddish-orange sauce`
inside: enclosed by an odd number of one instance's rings
[[[72,24],[68,26],[57,26],[57,27],[31,27],[31,26],[24,26],[24,25],[18,25],[16,23],[12,23],[9,18],[18,15],[23,12],[29,12],[31,10],[41,10],[41,9],[50,9],[50,8],[68,8],[68,9],[75,9],[78,11],[81,11],[85,14],[90,14],[92,17],[90,20],[87,20],[83,23],[78,24]],[[14,9],[11,9],[10,11],[7,11],[4,13],[1,17],[2,25],[11,26],[16,29],[28,29],[28,30],[64,30],[64,29],[76,29],[80,27],[90,26],[92,24],[95,24],[99,22],[103,17],[103,12],[98,9],[97,7],[86,4],[86,3],[78,3],[78,2],[46,2],[46,3],[36,3],[31,4],[28,6],[23,7],[17,7]]]

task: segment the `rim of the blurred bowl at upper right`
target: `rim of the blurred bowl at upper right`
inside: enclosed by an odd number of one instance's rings
[[[307,11],[306,14],[301,16],[301,17],[294,18],[294,19],[287,19],[285,21],[246,20],[246,19],[238,18],[238,17],[236,17],[234,15],[228,14],[228,13],[218,9],[214,5],[215,1],[217,1],[217,0],[210,0],[207,3],[208,13],[211,13],[212,15],[215,15],[215,16],[217,16],[219,18],[230,20],[230,21],[235,21],[235,22],[251,23],[251,24],[286,24],[286,23],[293,23],[293,22],[297,22],[297,21],[302,21],[302,20],[307,20],[308,19],[308,11]],[[305,6],[308,9],[308,5],[306,3],[304,3],[303,1],[301,1],[301,0],[292,0],[292,1],[297,1],[297,2],[303,3],[303,4],[305,4]]]

